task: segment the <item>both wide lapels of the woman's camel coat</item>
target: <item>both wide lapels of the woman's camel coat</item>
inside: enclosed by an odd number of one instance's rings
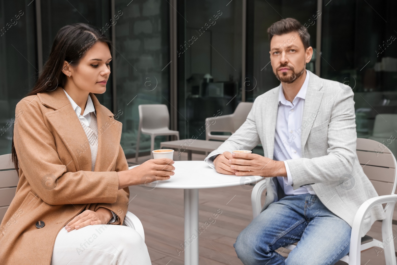
[[[43,105],[54,109],[44,116],[69,150],[76,171],[91,171],[91,148],[87,135],[63,89],[58,87],[37,95]],[[89,95],[98,124],[98,153],[94,171],[110,171],[118,156],[122,125],[112,118],[112,112],[102,106],[93,93]]]

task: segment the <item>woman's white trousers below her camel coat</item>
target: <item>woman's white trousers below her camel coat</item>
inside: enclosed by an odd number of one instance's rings
[[[151,265],[142,237],[133,228],[88,225],[58,233],[51,265]]]

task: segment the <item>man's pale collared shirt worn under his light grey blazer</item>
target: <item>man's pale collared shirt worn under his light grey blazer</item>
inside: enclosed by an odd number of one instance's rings
[[[308,83],[309,72],[306,70],[306,78],[292,103],[285,99],[283,87],[280,84],[273,159],[284,161],[287,177],[277,177],[277,180],[281,187],[283,187],[285,195],[298,195],[304,193],[316,195],[310,185],[299,187],[296,190],[292,188],[291,185],[293,184],[293,180],[286,161],[288,159],[298,159],[302,157],[301,131],[299,129],[302,126],[303,105]]]

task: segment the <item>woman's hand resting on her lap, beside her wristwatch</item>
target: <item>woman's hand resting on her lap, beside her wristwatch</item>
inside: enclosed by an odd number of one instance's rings
[[[85,210],[83,213],[77,215],[65,226],[67,232],[73,229],[79,229],[87,225],[94,224],[107,224],[113,215],[109,209],[99,207],[96,212],[91,210]]]

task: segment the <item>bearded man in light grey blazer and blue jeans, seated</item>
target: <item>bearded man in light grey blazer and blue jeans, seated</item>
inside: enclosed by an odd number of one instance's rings
[[[335,264],[349,253],[358,207],[378,196],[356,155],[353,91],[306,70],[313,49],[299,21],[282,19],[268,33],[281,84],[257,97],[245,123],[205,160],[223,174],[266,178],[262,212],[234,244],[245,265]],[[230,153],[258,143],[263,157]],[[382,207],[372,207],[361,236],[382,219]],[[287,259],[276,252],[297,241]]]

